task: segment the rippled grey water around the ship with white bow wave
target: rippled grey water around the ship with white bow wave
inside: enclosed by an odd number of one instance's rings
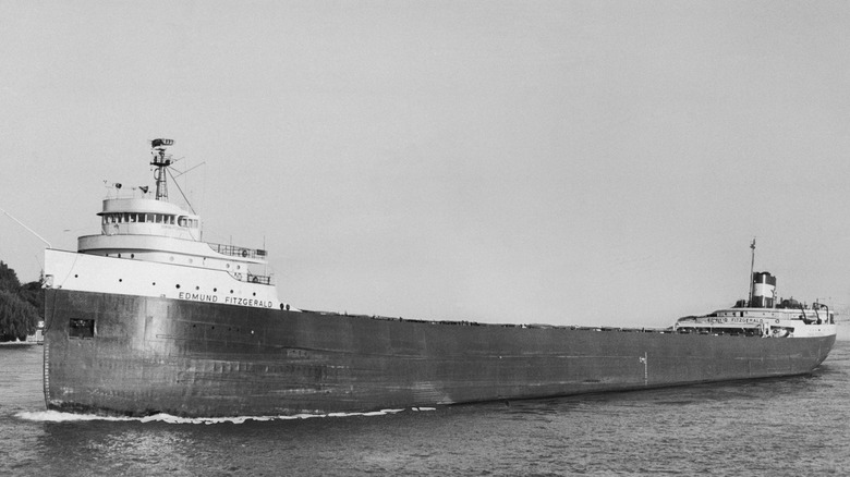
[[[807,377],[218,423],[45,412],[41,352],[0,346],[0,475],[850,474],[850,342]]]

